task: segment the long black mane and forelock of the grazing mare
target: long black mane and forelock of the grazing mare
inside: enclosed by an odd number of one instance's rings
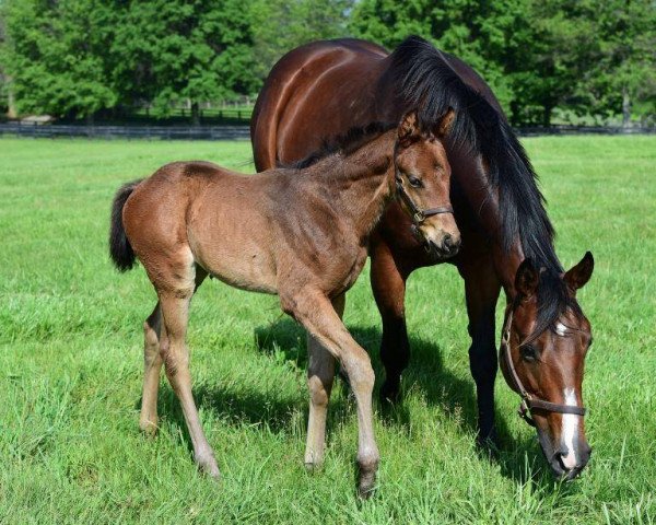
[[[553,248],[554,231],[537,186],[538,177],[505,117],[467,85],[446,56],[423,38],[406,38],[389,59],[385,79],[394,86],[403,109],[418,108],[420,128],[435,129],[453,108],[449,141],[487,161],[490,185],[499,189],[503,247],[508,252],[518,238],[525,256],[541,269],[534,334],[552,326],[567,308],[581,314],[560,278],[563,268]]]

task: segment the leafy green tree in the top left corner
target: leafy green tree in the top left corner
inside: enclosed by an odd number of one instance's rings
[[[90,117],[117,94],[103,60],[114,13],[93,0],[10,1],[4,69],[21,113]]]

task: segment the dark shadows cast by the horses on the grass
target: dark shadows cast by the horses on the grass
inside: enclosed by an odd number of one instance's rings
[[[401,400],[395,405],[379,402],[378,389],[385,377],[385,371],[379,359],[380,330],[375,327],[350,326],[349,330],[355,340],[370,353],[376,372],[374,399],[377,404],[377,417],[386,424],[395,425],[409,433],[411,416]],[[260,352],[280,354],[293,366],[305,371],[307,368],[307,351],[305,330],[289,318],[259,326],[255,329],[255,339]],[[432,341],[410,336],[412,357],[403,373],[402,388],[405,392],[418,390],[426,402],[453,418],[462,431],[472,439],[476,434],[478,417],[473,380],[462,380],[444,365],[438,345]],[[503,380],[500,380],[503,381]],[[328,439],[332,429],[349,420],[354,411],[354,400],[343,374],[338,373],[328,416]],[[341,392],[341,395],[339,394]],[[337,395],[336,395],[337,394]],[[288,432],[295,422],[295,415],[302,411],[303,432],[307,424],[308,396],[284,396],[282,394],[265,394],[255,388],[234,388],[231,385],[198,384],[194,387],[194,396],[200,409],[212,410],[227,424],[266,425],[270,432]],[[172,419],[180,428],[186,429],[185,419],[175,394],[166,385],[160,395],[160,413]],[[520,439],[513,436],[506,424],[507,415],[496,413],[496,431],[501,448],[492,454],[480,450],[481,460],[491,460],[499,465],[501,474],[522,485],[532,481],[547,492],[553,487],[546,460],[542,458],[535,434],[523,433]],[[296,421],[297,422],[297,421]],[[183,432],[189,450],[191,442],[187,432]],[[531,463],[527,468],[526,459]],[[567,488],[563,490],[567,491]]]

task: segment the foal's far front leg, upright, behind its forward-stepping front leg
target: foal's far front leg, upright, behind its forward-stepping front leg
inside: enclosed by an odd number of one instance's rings
[[[337,315],[344,313],[344,294],[332,301]],[[313,469],[324,462],[326,445],[326,417],[330,392],[335,380],[335,358],[321,343],[307,334],[307,386],[309,387],[309,418],[307,420],[307,442],[305,466]]]

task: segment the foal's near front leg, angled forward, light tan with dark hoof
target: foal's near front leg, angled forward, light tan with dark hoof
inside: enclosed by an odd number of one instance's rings
[[[355,342],[326,295],[305,288],[285,292],[281,290],[282,310],[301,323],[330,354],[338,359],[349,376],[358,404],[358,489],[366,498],[374,489],[380,456],[374,439],[372,394],[374,369],[366,351]]]

